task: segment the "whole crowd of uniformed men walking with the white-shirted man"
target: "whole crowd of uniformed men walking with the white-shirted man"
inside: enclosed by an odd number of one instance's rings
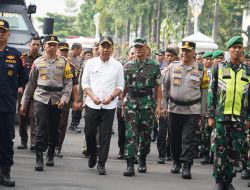
[[[54,166],[63,157],[69,130],[81,133],[88,166],[106,175],[112,126],[118,119],[118,159],[126,159],[124,176],[146,173],[151,141],[157,139],[158,163],[173,161],[171,173],[191,179],[195,158],[213,164],[214,190],[233,190],[233,177],[250,178],[250,53],[241,36],[227,42],[224,52],[199,52],[194,42],[181,42],[156,52],[144,38],[135,38],[126,61],[113,55],[111,37],[93,49],[59,42],[55,35],[30,39],[29,51],[7,46],[9,24],[0,20],[0,183],[15,186],[13,165],[16,104],[19,110],[17,149],[36,153],[35,171]],[[41,52],[41,46],[44,51]],[[71,51],[70,51],[71,50]],[[83,52],[83,53],[82,53]],[[18,103],[17,103],[18,102]],[[84,112],[83,112],[84,110]],[[84,116],[83,114],[84,113]],[[157,138],[156,138],[157,137]]]

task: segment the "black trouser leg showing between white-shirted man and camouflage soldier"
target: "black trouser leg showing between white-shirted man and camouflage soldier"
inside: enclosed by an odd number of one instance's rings
[[[122,117],[122,109],[117,108],[116,109],[116,116],[118,121],[118,146],[121,152],[124,152],[125,147],[125,121]]]

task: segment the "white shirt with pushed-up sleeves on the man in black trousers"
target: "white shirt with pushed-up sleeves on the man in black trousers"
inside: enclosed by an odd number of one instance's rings
[[[122,64],[110,57],[103,62],[100,57],[95,57],[86,62],[83,76],[82,88],[91,88],[93,94],[101,101],[109,97],[116,88],[124,89],[124,72]],[[89,96],[85,104],[92,109],[114,109],[116,108],[117,97],[108,105],[96,105]]]

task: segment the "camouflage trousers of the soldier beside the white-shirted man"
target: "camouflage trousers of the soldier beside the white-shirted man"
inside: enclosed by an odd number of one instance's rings
[[[134,158],[150,152],[151,132],[154,126],[154,109],[125,109],[126,145],[125,155]]]

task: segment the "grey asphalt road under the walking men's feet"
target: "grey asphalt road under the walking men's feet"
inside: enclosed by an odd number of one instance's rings
[[[83,129],[83,124],[81,125]],[[212,190],[212,165],[200,165],[195,160],[192,167],[192,180],[184,180],[180,174],[171,174],[171,162],[157,164],[156,144],[152,143],[151,153],[147,159],[148,172],[134,177],[124,177],[126,167],[124,160],[116,159],[117,125],[114,123],[115,134],[112,136],[109,159],[106,163],[107,175],[96,175],[96,168],[88,168],[88,159],[81,155],[82,133],[67,132],[63,146],[63,158],[55,159],[54,167],[45,167],[45,171],[34,171],[35,154],[30,150],[17,150],[20,143],[18,127],[15,138],[15,164],[11,175],[16,181],[15,188],[0,186],[0,190]],[[137,165],[135,165],[137,169]],[[234,179],[237,190],[248,190],[246,180],[238,174]]]

